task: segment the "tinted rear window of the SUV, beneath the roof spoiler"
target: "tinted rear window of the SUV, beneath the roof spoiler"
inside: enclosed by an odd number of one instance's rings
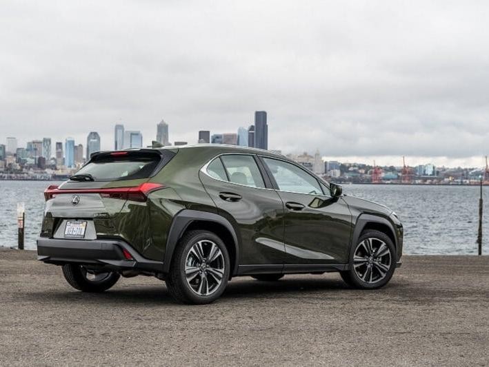
[[[75,175],[90,175],[94,181],[148,178],[154,176],[173,156],[172,151],[104,152],[92,156]]]

